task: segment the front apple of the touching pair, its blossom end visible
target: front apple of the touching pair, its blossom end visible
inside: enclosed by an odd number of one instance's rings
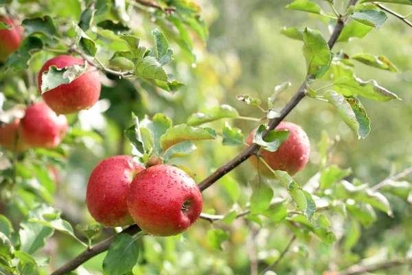
[[[202,205],[201,191],[192,177],[164,164],[137,174],[127,197],[128,210],[137,225],[156,236],[187,230],[198,220]]]

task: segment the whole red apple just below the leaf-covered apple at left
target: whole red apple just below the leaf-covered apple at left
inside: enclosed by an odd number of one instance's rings
[[[27,108],[20,128],[21,137],[30,146],[54,148],[66,135],[67,118],[39,102]]]

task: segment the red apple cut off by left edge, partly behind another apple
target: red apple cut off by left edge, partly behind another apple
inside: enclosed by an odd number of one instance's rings
[[[10,151],[14,151],[14,142],[16,142],[16,135],[19,135],[17,138],[17,152],[23,152],[30,148],[30,146],[23,140],[19,133],[20,128],[20,119],[16,118],[13,122],[0,126],[0,144],[3,148],[6,148]]]

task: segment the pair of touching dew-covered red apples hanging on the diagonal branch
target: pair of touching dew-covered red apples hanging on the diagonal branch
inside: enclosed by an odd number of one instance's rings
[[[117,155],[93,169],[86,204],[106,227],[136,223],[147,234],[172,236],[198,220],[203,199],[183,170],[165,164],[145,169],[133,157]]]

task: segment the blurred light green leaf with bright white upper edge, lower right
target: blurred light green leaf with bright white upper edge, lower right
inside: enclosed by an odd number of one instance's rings
[[[356,202],[369,203],[374,208],[378,208],[392,216],[391,206],[387,198],[379,192],[372,191],[367,184],[354,186],[348,181],[342,180],[336,184],[334,195],[342,199],[353,199]]]

